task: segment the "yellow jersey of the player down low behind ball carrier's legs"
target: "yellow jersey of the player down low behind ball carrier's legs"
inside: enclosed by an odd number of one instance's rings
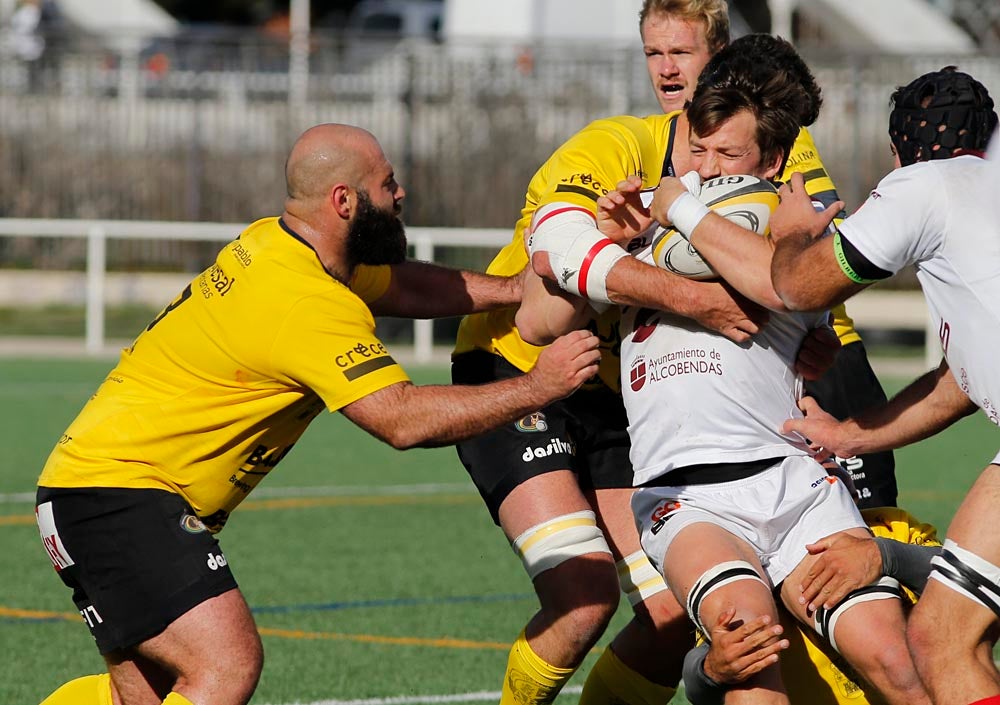
[[[876,507],[861,510],[872,533],[919,546],[940,546],[937,529],[924,524],[898,507]],[[912,602],[916,596],[903,588]],[[862,705],[884,703],[885,700],[864,684],[859,683],[850,666],[818,634],[781,610],[785,636],[791,642],[779,656],[781,677],[791,702],[815,705]]]

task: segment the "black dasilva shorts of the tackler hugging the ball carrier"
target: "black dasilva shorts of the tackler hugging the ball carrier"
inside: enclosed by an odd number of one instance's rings
[[[455,384],[484,384],[524,374],[498,355],[456,356]],[[511,491],[537,475],[572,470],[580,487],[632,487],[628,418],[620,394],[601,386],[582,389],[516,423],[458,444],[458,457],[499,523]]]

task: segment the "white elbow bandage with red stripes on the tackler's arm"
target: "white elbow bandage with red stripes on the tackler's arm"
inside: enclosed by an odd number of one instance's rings
[[[594,225],[594,215],[568,203],[553,203],[535,213],[528,251],[544,252],[564,291],[610,304],[606,279],[615,262],[628,253]]]

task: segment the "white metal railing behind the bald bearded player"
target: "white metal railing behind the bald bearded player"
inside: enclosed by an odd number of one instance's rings
[[[107,241],[186,240],[228,242],[246,228],[245,223],[179,223],[131,220],[49,220],[0,218],[0,237],[79,237],[87,241],[85,349],[104,349],[105,281]],[[510,242],[504,228],[407,228],[407,240],[419,260],[434,261],[437,247],[487,247],[499,249]],[[413,322],[413,355],[418,362],[433,357],[433,322]]]

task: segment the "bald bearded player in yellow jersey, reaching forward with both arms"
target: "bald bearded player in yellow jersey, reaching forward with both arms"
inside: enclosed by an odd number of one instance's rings
[[[396,448],[443,445],[597,370],[597,340],[577,332],[517,379],[413,385],[374,314],[509,303],[502,288],[404,262],[405,192],[365,130],[307,130],[286,181],[282,215],[249,226],[153,319],[42,470],[43,545],[108,666],[46,705],[250,700],[263,650],[215,532],[324,409]]]

